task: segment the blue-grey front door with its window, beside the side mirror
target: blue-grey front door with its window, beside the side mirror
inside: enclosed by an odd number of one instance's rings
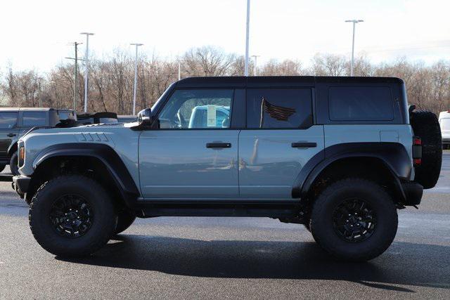
[[[233,89],[179,89],[139,138],[143,197],[238,197],[238,134],[230,129]]]

